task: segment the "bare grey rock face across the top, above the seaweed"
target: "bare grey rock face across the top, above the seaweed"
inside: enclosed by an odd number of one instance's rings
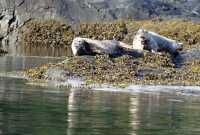
[[[156,16],[200,18],[199,0],[0,0],[0,40],[6,50],[18,40],[17,28],[30,19],[81,21],[148,19]]]

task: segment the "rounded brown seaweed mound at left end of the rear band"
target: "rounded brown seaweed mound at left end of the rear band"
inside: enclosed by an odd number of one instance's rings
[[[71,26],[56,20],[29,21],[20,33],[24,46],[66,47],[74,38]]]

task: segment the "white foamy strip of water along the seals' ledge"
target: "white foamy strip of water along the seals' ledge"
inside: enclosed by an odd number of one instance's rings
[[[11,73],[0,73],[1,77],[11,77],[11,78],[23,78],[21,72],[11,72]],[[29,85],[38,85],[45,87],[70,87],[70,88],[90,88],[93,91],[108,91],[108,92],[129,92],[129,93],[155,93],[155,92],[167,92],[167,93],[177,93],[182,95],[195,95],[200,96],[200,86],[167,86],[167,85],[129,85],[126,88],[114,87],[109,84],[91,84],[87,85],[84,79],[78,77],[67,78],[66,80],[49,80],[45,82],[28,82]]]

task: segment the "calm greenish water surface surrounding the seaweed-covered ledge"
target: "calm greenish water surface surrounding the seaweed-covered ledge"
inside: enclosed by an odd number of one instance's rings
[[[0,72],[58,59],[1,57]],[[0,77],[2,135],[199,135],[199,95],[28,85]]]

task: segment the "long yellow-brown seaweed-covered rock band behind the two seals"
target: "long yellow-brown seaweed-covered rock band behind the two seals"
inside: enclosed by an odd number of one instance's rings
[[[97,40],[116,39],[132,44],[139,28],[183,42],[185,50],[200,47],[200,24],[185,20],[118,20],[81,23],[76,26],[76,29],[56,20],[32,20],[26,23],[20,32],[23,45],[65,47],[71,45],[73,38],[77,36]]]

